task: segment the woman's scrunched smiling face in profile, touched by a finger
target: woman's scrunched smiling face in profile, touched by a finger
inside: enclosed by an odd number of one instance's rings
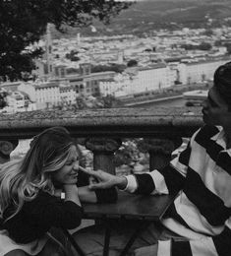
[[[68,160],[62,168],[55,171],[52,175],[54,183],[76,184],[78,180],[79,154],[76,146],[71,146]]]

